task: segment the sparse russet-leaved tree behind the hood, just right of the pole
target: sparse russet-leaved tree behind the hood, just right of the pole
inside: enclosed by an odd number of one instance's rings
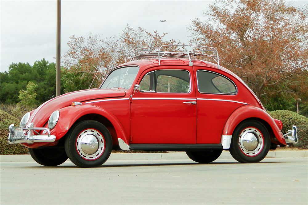
[[[100,39],[99,34],[89,33],[87,36],[70,37],[67,45],[70,49],[63,55],[62,78],[65,92],[98,87],[104,77],[115,66],[125,62],[125,54],[137,48],[180,44],[175,40],[163,41],[166,34],[147,32],[142,28],[134,30],[129,25],[119,38]],[[95,77],[96,75],[96,77]],[[78,81],[81,81],[79,84]]]

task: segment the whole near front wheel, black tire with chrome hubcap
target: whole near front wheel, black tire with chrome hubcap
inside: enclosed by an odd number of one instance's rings
[[[77,123],[67,133],[65,151],[79,167],[97,167],[109,158],[112,138],[108,129],[95,120]]]

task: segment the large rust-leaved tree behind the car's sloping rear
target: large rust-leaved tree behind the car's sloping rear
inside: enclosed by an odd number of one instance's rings
[[[209,8],[205,22],[195,19],[188,28],[191,43],[217,48],[220,64],[241,77],[263,102],[269,96],[306,95],[305,10],[276,0],[217,1]]]

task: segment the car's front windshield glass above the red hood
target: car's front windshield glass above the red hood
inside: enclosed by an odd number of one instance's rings
[[[124,67],[112,71],[104,81],[100,89],[125,88],[129,89],[135,80],[139,67]]]

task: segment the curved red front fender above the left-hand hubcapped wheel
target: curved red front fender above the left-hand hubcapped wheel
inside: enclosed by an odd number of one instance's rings
[[[60,116],[55,128],[51,130],[51,135],[56,136],[56,140],[62,138],[71,126],[82,116],[87,114],[98,114],[107,118],[115,128],[118,138],[129,144],[128,137],[120,121],[108,110],[91,104],[81,104],[76,106],[68,106],[59,109]]]

